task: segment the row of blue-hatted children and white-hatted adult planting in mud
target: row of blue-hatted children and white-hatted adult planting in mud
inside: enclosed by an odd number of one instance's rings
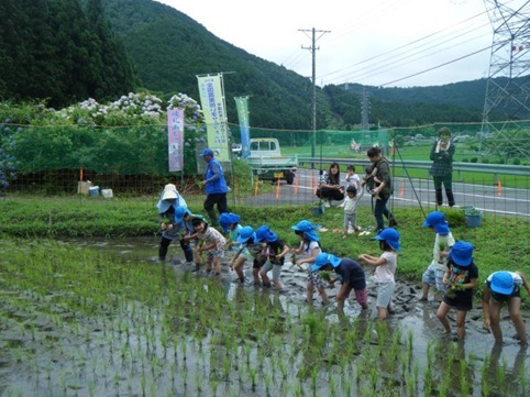
[[[170,205],[164,202],[165,200],[169,200]],[[165,260],[169,243],[173,240],[179,240],[186,262],[195,263],[194,271],[200,269],[202,256],[206,254],[207,274],[213,269],[216,275],[220,275],[221,260],[228,250],[232,253],[229,266],[235,272],[240,283],[245,282],[245,264],[252,263],[252,276],[255,285],[274,286],[276,290],[281,291],[283,286],[279,282],[281,268],[286,256],[290,254],[292,264],[305,267],[308,272],[306,302],[312,305],[313,293],[317,289],[322,305],[328,305],[327,287],[340,282],[341,288],[335,296],[340,312],[343,312],[344,301],[350,297],[352,289],[355,300],[362,308],[368,307],[366,276],[361,265],[366,264],[375,268],[376,308],[379,320],[385,320],[388,315],[395,312],[393,295],[396,287],[397,257],[401,247],[400,234],[394,228],[383,229],[375,236],[383,251],[380,256],[361,254],[354,261],[322,252],[318,234],[320,225],[314,225],[308,220],[301,220],[291,227],[300,243],[297,247],[290,249],[267,225],[261,225],[255,230],[250,225],[242,227],[240,224],[241,217],[235,213],[220,216],[219,223],[225,233],[223,235],[210,227],[201,216],[191,213],[174,185],[165,187],[157,207],[163,218],[161,222],[163,232],[159,244],[161,260]],[[355,225],[354,221],[352,224]],[[349,224],[345,223],[344,228],[347,227]],[[430,212],[423,227],[432,229],[435,232],[435,239],[432,261],[422,276],[423,286],[420,300],[427,301],[430,287],[435,286],[443,294],[437,317],[445,333],[450,334],[451,326],[448,313],[454,308],[456,310],[456,338],[463,340],[465,318],[467,311],[473,307],[473,291],[478,279],[478,268],[473,261],[473,245],[465,241],[454,240],[443,212]],[[272,279],[268,276],[269,272]],[[331,277],[328,272],[333,276]],[[503,341],[499,313],[501,306],[506,302],[521,344],[527,343],[525,323],[520,313],[521,286],[530,294],[530,286],[521,273],[505,271],[493,273],[484,284],[484,328],[493,332],[496,342]]]

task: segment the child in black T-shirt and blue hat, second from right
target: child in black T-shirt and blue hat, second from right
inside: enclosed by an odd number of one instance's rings
[[[454,243],[448,256],[442,283],[446,286],[443,300],[437,311],[437,317],[451,333],[448,313],[451,308],[456,309],[456,337],[460,341],[465,338],[465,317],[473,308],[473,289],[476,287],[478,268],[473,263],[473,244],[465,241]]]

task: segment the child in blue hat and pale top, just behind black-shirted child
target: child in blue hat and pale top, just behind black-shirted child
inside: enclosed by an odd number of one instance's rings
[[[430,228],[435,233],[434,247],[432,250],[432,261],[427,271],[423,273],[421,288],[421,301],[427,301],[429,297],[429,287],[437,286],[440,293],[445,293],[445,286],[442,283],[443,274],[446,269],[446,258],[454,245],[454,238],[449,230],[449,224],[445,221],[445,216],[440,211],[430,212],[423,228]]]

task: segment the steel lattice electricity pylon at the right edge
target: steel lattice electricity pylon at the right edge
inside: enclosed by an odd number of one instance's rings
[[[484,0],[484,4],[494,37],[482,131],[493,135],[489,148],[496,154],[529,158],[530,1]],[[499,117],[503,122],[493,122]]]

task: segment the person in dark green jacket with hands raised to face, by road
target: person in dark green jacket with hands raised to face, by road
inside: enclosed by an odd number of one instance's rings
[[[453,156],[454,144],[451,141],[451,130],[442,126],[439,131],[439,139],[431,148],[430,158],[432,161],[429,174],[432,175],[434,181],[434,191],[437,195],[437,205],[443,203],[442,185],[445,189],[449,207],[454,206],[453,195]]]

